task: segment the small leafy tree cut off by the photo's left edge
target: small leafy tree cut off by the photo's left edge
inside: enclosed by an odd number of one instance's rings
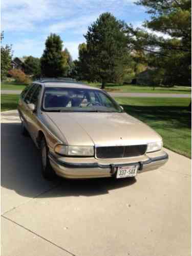
[[[1,33],[1,44],[4,39],[4,31]],[[1,81],[3,81],[11,68],[12,47],[1,45]]]

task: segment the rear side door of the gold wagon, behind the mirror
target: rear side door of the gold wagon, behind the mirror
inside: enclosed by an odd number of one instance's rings
[[[31,111],[28,107],[28,104],[30,103],[30,99],[35,91],[35,89],[37,88],[37,84],[32,84],[32,86],[30,87],[30,89],[28,90],[28,92],[26,93],[24,100],[23,100],[23,109],[22,109],[22,114],[23,114],[23,122],[24,125],[26,127],[26,129],[28,130],[28,132],[30,133],[30,118],[31,118]]]

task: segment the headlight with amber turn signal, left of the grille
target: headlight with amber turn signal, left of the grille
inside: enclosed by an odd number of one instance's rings
[[[55,152],[66,156],[94,156],[94,147],[56,145]]]

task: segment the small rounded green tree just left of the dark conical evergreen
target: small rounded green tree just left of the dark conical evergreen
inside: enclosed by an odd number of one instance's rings
[[[40,59],[33,56],[26,57],[24,63],[25,74],[40,77]]]

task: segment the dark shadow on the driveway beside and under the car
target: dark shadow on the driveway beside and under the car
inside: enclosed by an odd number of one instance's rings
[[[132,185],[136,179],[46,181],[40,173],[40,154],[30,137],[20,134],[20,123],[1,124],[1,186],[26,197],[94,196]],[[59,189],[52,189],[60,187]],[[49,193],[46,191],[52,189]]]

